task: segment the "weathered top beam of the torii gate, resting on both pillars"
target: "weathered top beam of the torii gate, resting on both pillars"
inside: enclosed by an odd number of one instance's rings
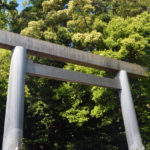
[[[0,30],[0,47],[12,50],[15,46],[23,46],[27,49],[27,53],[32,55],[52,58],[96,69],[116,72],[119,70],[126,70],[130,75],[137,77],[146,77],[148,72],[148,68],[137,64],[94,55],[70,47]]]

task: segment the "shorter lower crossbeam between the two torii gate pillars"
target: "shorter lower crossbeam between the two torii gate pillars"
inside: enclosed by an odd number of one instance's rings
[[[98,77],[80,72],[64,70],[56,67],[41,65],[27,61],[27,75],[38,76],[55,80],[70,81],[85,85],[94,85],[110,89],[121,89],[118,79]]]

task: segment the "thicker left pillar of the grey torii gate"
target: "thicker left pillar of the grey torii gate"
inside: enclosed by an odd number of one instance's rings
[[[12,50],[2,150],[22,149],[26,49]]]

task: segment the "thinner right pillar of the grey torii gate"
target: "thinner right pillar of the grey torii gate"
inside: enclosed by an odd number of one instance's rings
[[[127,143],[129,150],[144,150],[142,145],[141,135],[137,123],[136,112],[132,100],[127,72],[121,70],[118,73],[118,78],[121,84],[119,91],[122,116],[126,131]]]

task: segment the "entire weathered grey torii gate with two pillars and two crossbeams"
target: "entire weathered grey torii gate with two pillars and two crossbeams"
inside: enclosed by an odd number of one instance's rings
[[[25,75],[116,89],[129,150],[144,150],[130,92],[128,75],[146,77],[148,68],[90,54],[70,47],[0,30],[0,48],[12,50],[2,150],[18,150],[23,137]],[[116,78],[63,70],[26,60],[26,52],[40,57],[116,72]]]

